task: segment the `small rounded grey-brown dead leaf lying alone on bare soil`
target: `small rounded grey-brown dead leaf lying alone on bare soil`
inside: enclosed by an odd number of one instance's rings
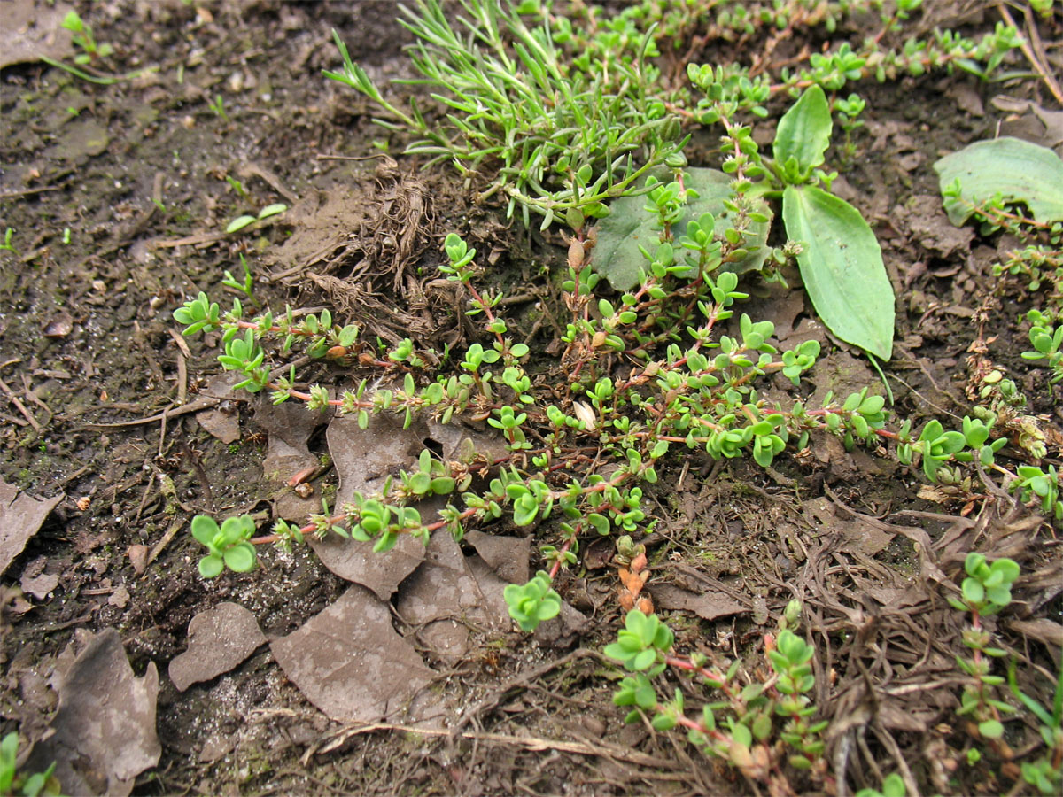
[[[239,604],[219,604],[188,624],[188,649],[170,662],[170,680],[184,692],[227,673],[264,644],[254,614]]]

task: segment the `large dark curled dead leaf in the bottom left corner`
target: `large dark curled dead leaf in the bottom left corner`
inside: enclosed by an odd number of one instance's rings
[[[34,747],[31,766],[44,769],[55,761],[64,794],[124,797],[136,776],[155,766],[162,754],[155,732],[155,663],[135,677],[118,631],[107,628],[89,639],[56,680],[55,733]]]

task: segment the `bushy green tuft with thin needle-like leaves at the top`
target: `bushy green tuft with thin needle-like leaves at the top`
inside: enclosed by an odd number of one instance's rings
[[[460,9],[457,28],[439,0],[402,9],[422,75],[409,83],[428,86],[446,107],[440,126],[416,103],[406,113],[389,102],[338,34],[343,68],[325,77],[365,94],[421,136],[407,153],[427,155],[429,164],[451,162],[470,179],[483,175],[489,182],[483,196],[501,192],[508,215],[519,209],[525,225],[535,213],[543,228],[555,218],[581,227],[654,167],[682,164],[679,120],[652,91],[658,70],[651,35],[629,58],[604,68],[598,60],[581,65],[569,56],[562,48],[571,32],[555,31],[538,3],[460,0]],[[526,22],[528,13],[539,22]]]

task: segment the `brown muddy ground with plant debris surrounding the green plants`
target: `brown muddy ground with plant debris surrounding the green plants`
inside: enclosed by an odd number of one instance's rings
[[[998,19],[986,6],[954,10],[950,21],[950,5],[930,5],[939,24],[963,24],[973,36]],[[4,2],[0,11],[14,18],[14,6],[33,3]],[[678,733],[624,725],[625,712],[611,702],[619,673],[596,652],[614,638],[621,616],[608,547],[585,548],[580,565],[558,583],[581,618],[528,637],[487,611],[482,622],[466,618],[457,656],[423,633],[442,615],[411,622],[403,609],[416,576],[403,577],[393,595],[383,591],[385,599],[372,606],[385,607],[382,622],[392,635],[379,645],[405,662],[402,677],[441,707],[427,720],[422,712],[420,731],[395,700],[366,709],[384,699],[373,678],[340,679],[344,694],[330,697],[327,684],[306,674],[319,666],[317,638],[289,634],[361,589],[313,552],[266,552],[253,574],[200,578],[199,546],[185,530],[192,515],[256,513],[265,527],[279,511],[314,511],[317,496],[335,495],[340,463],[315,474],[315,496],[305,504],[285,479],[325,455],[341,457],[332,429],[326,438],[323,427],[300,426],[225,392],[215,379],[217,336],[178,334],[171,313],[186,298],[200,290],[223,296],[222,273],[240,275],[242,254],[256,295],[274,307],[331,300],[341,305],[341,323],[348,312],[359,323],[375,321],[384,340],[405,329],[400,337],[411,333],[438,346],[465,333],[434,325],[446,313],[434,315],[431,303],[427,312],[412,313],[417,323],[405,316],[389,326],[389,312],[411,310],[408,286],[388,285],[388,264],[406,258],[431,274],[443,236],[458,232],[491,253],[492,273],[508,293],[525,295],[507,305],[507,318],[545,351],[554,333],[537,323],[543,313],[536,303],[549,308],[556,301],[555,283],[541,275],[557,273],[564,250],[558,237],[529,235],[507,225],[500,208],[474,203],[442,167],[420,173],[408,159],[382,167],[374,157],[377,145],[401,152],[402,139],[373,125],[366,102],[321,70],[338,64],[336,29],[378,82],[406,74],[401,46],[408,34],[393,22],[390,2],[79,9],[97,38],[115,46],[113,71],[157,69],[114,85],[32,60],[0,73],[0,227],[14,231],[16,250],[0,252],[0,476],[4,499],[23,502],[7,516],[28,535],[39,526],[3,577],[0,730],[37,742],[36,758],[77,748],[83,787],[98,792],[765,790],[704,758]],[[34,13],[45,26],[57,12],[40,3]],[[1043,24],[1046,41],[1060,39],[1058,18]],[[62,37],[52,52],[72,55]],[[710,41],[699,60],[729,53],[729,45]],[[1015,68],[1026,65],[1016,60]],[[898,411],[917,424],[967,411],[965,360],[978,335],[975,312],[984,307],[993,337],[988,356],[1009,370],[1046,427],[1058,429],[1059,387],[1049,388],[1045,373],[1019,357],[1028,345],[1016,318],[1032,300],[990,273],[1013,241],[951,227],[930,168],[942,154],[1000,130],[1045,142],[1032,116],[1010,118],[992,98],[1008,94],[1051,107],[1050,98],[1033,78],[988,85],[963,73],[860,90],[868,100],[866,124],[854,133],[856,156],[836,190],[871,221],[897,292],[898,344],[885,373]],[[776,118],[782,107],[773,105]],[[770,140],[772,123],[764,130]],[[695,165],[719,165],[714,141],[702,137],[694,159],[704,159]],[[273,203],[291,209],[241,234],[222,232],[237,216]],[[313,260],[315,245],[328,256]],[[338,252],[343,258],[330,261]],[[306,278],[305,268],[292,271],[311,261],[317,279]],[[358,268],[359,278],[377,288],[375,299],[337,292],[335,281]],[[750,287],[750,315],[782,329],[805,318],[799,291]],[[815,393],[875,384],[857,352],[836,346],[825,354],[811,372]],[[315,366],[305,378],[342,386],[352,376],[361,376],[356,367]],[[189,404],[195,412],[184,409]],[[1057,444],[1047,461],[1058,464],[1059,456]],[[975,547],[1018,559],[1032,575],[996,630],[1029,663],[1027,672],[1053,673],[1060,549],[1047,524],[998,491],[976,485],[980,497],[964,506],[941,492],[919,497],[921,485],[917,473],[889,458],[848,455],[826,442],[767,472],[697,456],[677,462],[651,495],[658,519],[646,540],[651,592],[680,649],[743,658],[753,672],[763,667],[762,638],[782,608],[793,597],[805,601],[806,629],[819,650],[819,716],[836,722],[834,764],[846,761],[842,747],[853,750],[846,790],[877,785],[876,767],[889,773],[905,762],[926,792],[1000,793],[1011,787],[1014,764],[992,757],[966,764],[974,742],[955,714],[961,681],[951,659],[962,651],[962,618],[945,605],[942,583],[958,581],[963,554]],[[503,558],[528,549],[512,528],[483,530],[512,545]],[[537,533],[552,541],[549,526]],[[474,554],[490,562],[489,550],[479,539],[439,557],[457,556],[455,566],[467,567]],[[519,562],[525,572],[539,565],[535,545],[530,550],[530,561]],[[485,583],[475,581],[482,596]],[[223,626],[232,646],[246,649],[199,682],[185,682],[179,666],[179,691],[170,665],[189,645],[189,622],[226,601],[250,610],[239,615],[239,633]],[[371,613],[367,606],[357,611]],[[453,607],[443,608],[453,618]],[[357,669],[358,658],[320,666]],[[94,669],[111,680],[101,685]],[[1045,683],[1026,685],[1045,698]],[[687,689],[693,699],[698,690]],[[1017,747],[1031,737],[1020,722],[1009,732]],[[86,752],[82,742],[94,735],[107,741]]]

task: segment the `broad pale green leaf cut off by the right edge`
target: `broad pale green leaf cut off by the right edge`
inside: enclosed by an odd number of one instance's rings
[[[957,181],[960,202],[946,202],[948,220],[965,222],[981,204],[1000,194],[1023,202],[1035,221],[1063,221],[1063,159],[1047,147],[1018,138],[976,141],[933,165],[944,194]]]

